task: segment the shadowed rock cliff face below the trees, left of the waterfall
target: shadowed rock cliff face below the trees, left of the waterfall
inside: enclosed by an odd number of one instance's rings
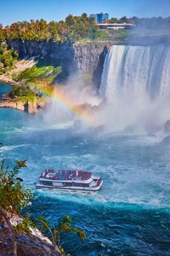
[[[90,73],[98,83],[104,66],[104,58],[109,45],[70,45],[55,42],[12,41],[10,48],[18,50],[20,59],[38,57],[44,64],[55,64],[63,67],[63,76],[75,72]],[[99,77],[99,78],[98,78]]]

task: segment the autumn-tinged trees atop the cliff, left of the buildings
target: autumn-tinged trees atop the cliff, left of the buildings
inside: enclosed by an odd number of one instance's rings
[[[68,15],[64,21],[58,22],[30,20],[5,27],[0,24],[0,40],[74,42],[82,38],[95,38],[96,31],[94,18],[88,18],[88,15],[83,13],[81,16]]]

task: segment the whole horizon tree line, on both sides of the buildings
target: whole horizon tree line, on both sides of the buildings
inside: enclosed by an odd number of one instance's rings
[[[168,18],[110,18],[109,23],[133,23],[139,29],[170,29]],[[3,27],[0,24],[0,41],[5,40],[36,40],[53,42],[75,42],[78,39],[96,39],[98,29],[95,18],[89,18],[86,13],[81,16],[68,15],[65,20],[30,20],[12,23]]]

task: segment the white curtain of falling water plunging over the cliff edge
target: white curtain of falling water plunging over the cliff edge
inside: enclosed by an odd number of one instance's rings
[[[170,118],[170,47],[112,46],[99,93],[107,99],[104,119],[110,129],[158,128]]]

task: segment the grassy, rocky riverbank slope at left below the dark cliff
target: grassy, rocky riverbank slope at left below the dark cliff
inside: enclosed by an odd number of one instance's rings
[[[37,113],[45,108],[49,102],[49,95],[42,94],[41,91],[44,88],[52,91],[50,78],[53,80],[53,68],[37,68],[35,64],[34,59],[17,61],[13,69],[0,75],[2,82],[12,86],[9,93],[1,95],[0,108],[15,108],[27,113]],[[40,73],[43,78],[38,77]],[[24,75],[32,75],[33,78],[28,79]]]

